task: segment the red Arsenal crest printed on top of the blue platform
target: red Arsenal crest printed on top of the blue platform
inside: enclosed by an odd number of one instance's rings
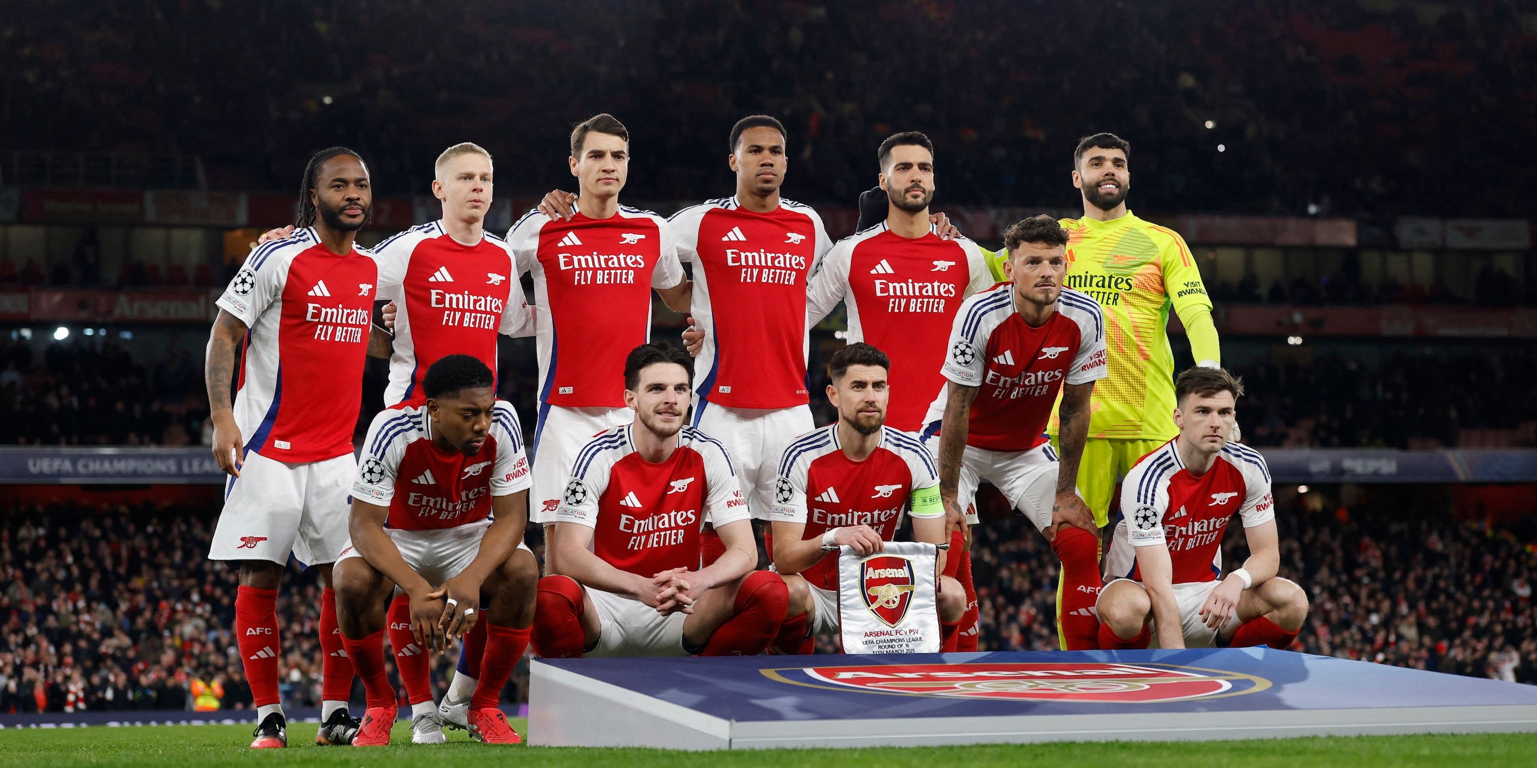
[[[784,677],[792,670],[776,670]],[[873,664],[804,667],[818,688],[1028,702],[1171,702],[1268,688],[1259,677],[1220,670],[1140,664]]]

